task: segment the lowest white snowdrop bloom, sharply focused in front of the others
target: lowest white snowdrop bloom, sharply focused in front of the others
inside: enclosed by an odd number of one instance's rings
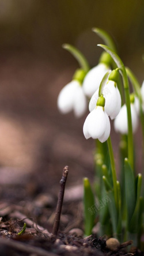
[[[104,142],[108,139],[110,134],[111,126],[109,122],[108,115],[105,113],[104,108],[97,106],[92,112],[87,116],[83,131],[85,138],[92,137],[100,142]]]

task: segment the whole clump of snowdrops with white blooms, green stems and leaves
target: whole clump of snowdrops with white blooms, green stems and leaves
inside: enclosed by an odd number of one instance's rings
[[[142,175],[136,175],[133,134],[137,131],[140,117],[143,144],[144,82],[142,86],[139,85],[132,71],[123,65],[112,37],[102,29],[93,31],[107,44],[98,45],[104,50],[98,65],[90,69],[84,55],[77,48],[65,44],[64,48],[74,55],[80,67],[75,71],[73,80],[58,96],[59,111],[62,114],[74,111],[77,118],[85,114],[89,102],[90,113],[86,117],[83,131],[86,139],[98,139],[94,154],[96,197],[89,180],[84,179],[85,234],[91,234],[94,219],[98,216],[101,225],[99,235],[114,236],[121,242],[133,239],[136,246],[142,247]],[[132,85],[132,93],[128,80]],[[114,128],[121,134],[120,182],[116,178],[109,118],[114,119]],[[96,211],[90,216],[89,210],[95,201],[96,205],[101,205],[105,195],[109,198],[108,204],[103,209],[99,207],[98,213]]]

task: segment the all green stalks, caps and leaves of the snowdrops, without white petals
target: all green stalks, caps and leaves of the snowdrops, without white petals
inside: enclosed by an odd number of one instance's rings
[[[113,67],[112,72],[107,71],[101,81],[98,91],[98,106],[105,106],[105,98],[103,97],[103,89],[108,79],[118,84],[122,103],[126,103],[128,134],[122,135],[120,140],[120,182],[116,177],[115,159],[113,156],[112,142],[109,137],[107,142],[103,144],[96,140],[96,151],[94,152],[94,165],[96,169],[96,178],[94,182],[94,190],[90,186],[88,178],[84,178],[84,219],[85,219],[85,235],[92,233],[92,228],[97,222],[100,223],[98,235],[113,236],[120,242],[126,242],[132,239],[134,246],[143,247],[141,237],[144,230],[143,223],[143,193],[142,175],[135,175],[134,161],[134,138],[132,134],[131,121],[131,100],[134,103],[135,95],[139,99],[140,118],[143,134],[143,153],[144,153],[144,119],[142,110],[141,86],[135,78],[132,71],[126,67],[116,53],[115,43],[107,32],[100,28],[94,28],[94,32],[100,36],[105,45],[98,45],[104,49],[101,54],[100,63],[105,63]],[[81,83],[88,73],[90,67],[88,61],[79,50],[70,44],[63,46],[66,50],[77,59],[80,69],[76,70],[73,79]],[[120,80],[120,76],[122,80]],[[128,78],[134,88],[134,95],[130,99],[130,89]]]

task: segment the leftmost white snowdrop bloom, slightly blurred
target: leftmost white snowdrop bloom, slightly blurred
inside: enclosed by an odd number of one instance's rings
[[[86,96],[81,84],[77,80],[69,82],[60,91],[57,104],[62,114],[73,110],[77,118],[81,117],[87,108]]]

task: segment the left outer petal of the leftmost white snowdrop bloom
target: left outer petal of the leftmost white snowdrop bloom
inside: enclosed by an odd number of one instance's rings
[[[73,80],[69,82],[69,84],[67,84],[65,87],[63,87],[63,89],[60,91],[57,105],[59,111],[62,112],[62,114],[67,114],[68,112],[73,110],[75,89],[77,89],[78,85],[79,83]]]

